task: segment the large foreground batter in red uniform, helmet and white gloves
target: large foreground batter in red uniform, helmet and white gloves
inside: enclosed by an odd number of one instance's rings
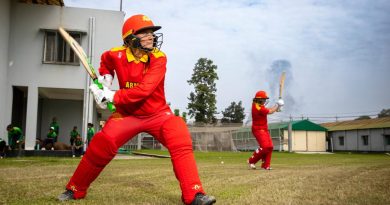
[[[59,200],[84,198],[118,148],[138,133],[147,132],[169,150],[182,201],[203,205],[216,202],[203,190],[186,124],[172,113],[165,100],[167,58],[160,50],[162,34],[154,33],[160,28],[147,16],[134,15],[122,28],[124,45],[102,54],[99,81],[104,89],[95,84],[90,89],[100,107],[107,108],[112,102],[116,112],[92,138]],[[120,87],[116,92],[109,89],[115,74]]]

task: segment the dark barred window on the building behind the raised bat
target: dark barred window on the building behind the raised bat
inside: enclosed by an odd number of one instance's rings
[[[80,32],[69,33],[78,43],[81,42]],[[43,63],[80,65],[79,59],[56,30],[45,30]]]

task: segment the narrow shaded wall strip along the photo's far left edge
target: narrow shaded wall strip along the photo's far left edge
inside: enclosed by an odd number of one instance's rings
[[[0,138],[5,138],[6,141],[8,141],[6,127],[11,121],[11,111],[6,109],[9,107],[6,96],[10,96],[7,85],[10,8],[9,0],[0,1]]]

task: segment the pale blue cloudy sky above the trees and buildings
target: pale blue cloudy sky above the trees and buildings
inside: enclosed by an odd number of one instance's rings
[[[120,10],[120,2],[64,0],[105,10]],[[242,101],[250,118],[258,90],[273,105],[283,71],[285,106],[270,121],[335,121],[390,109],[388,0],[122,0],[122,10],[125,19],[145,14],[162,26],[172,109],[187,111],[194,90],[187,80],[199,58],[218,66],[219,113]]]

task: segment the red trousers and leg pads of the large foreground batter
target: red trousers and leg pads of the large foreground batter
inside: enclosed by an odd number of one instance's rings
[[[142,117],[114,113],[92,138],[66,188],[74,192],[76,199],[84,198],[90,184],[115,157],[118,148],[140,132],[149,133],[169,150],[185,204],[191,203],[196,193],[204,194],[187,125],[169,109]]]

